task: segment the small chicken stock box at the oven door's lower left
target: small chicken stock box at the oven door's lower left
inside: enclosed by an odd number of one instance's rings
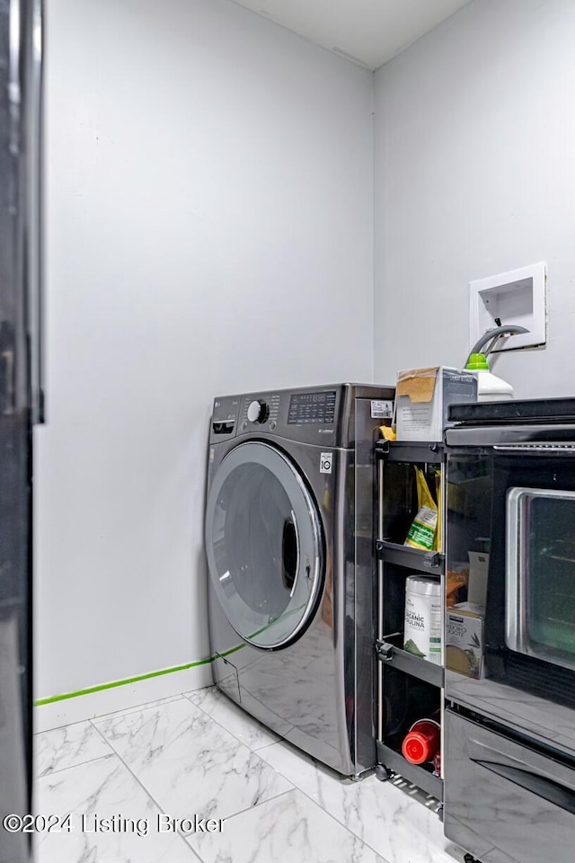
[[[481,678],[484,616],[484,607],[473,602],[447,609],[446,668],[452,672]]]

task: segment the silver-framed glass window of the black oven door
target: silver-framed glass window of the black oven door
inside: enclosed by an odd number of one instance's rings
[[[506,642],[575,669],[575,492],[509,488]]]

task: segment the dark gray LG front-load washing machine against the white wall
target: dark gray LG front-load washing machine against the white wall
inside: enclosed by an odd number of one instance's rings
[[[217,686],[347,776],[376,763],[373,443],[393,387],[214,402],[205,537]]]

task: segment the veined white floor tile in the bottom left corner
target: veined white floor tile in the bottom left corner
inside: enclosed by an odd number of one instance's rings
[[[117,755],[41,777],[34,812],[62,820],[36,833],[37,863],[198,863],[181,833],[158,831],[161,810]]]

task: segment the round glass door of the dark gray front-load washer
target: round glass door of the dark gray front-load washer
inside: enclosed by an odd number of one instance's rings
[[[212,589],[238,635],[265,648],[293,641],[322,589],[322,530],[279,449],[249,441],[222,460],[208,494],[206,548]]]

